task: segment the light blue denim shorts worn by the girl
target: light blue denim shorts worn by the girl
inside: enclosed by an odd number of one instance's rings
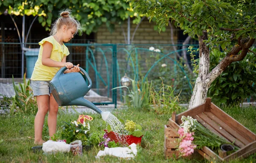
[[[50,96],[50,93],[52,93],[52,92],[49,87],[49,82],[50,81],[31,80],[33,95],[34,96],[41,96],[41,95],[49,95]]]

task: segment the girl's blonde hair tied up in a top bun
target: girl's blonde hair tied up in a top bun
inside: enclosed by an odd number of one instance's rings
[[[70,16],[71,10],[66,9],[60,13],[60,16],[55,22],[52,24],[52,30],[50,32],[50,35],[53,36],[57,33],[57,31],[63,26],[66,25],[67,28],[76,27],[76,33],[78,31],[81,31],[81,25],[78,20],[76,20],[74,17]],[[75,34],[76,34],[75,33]]]

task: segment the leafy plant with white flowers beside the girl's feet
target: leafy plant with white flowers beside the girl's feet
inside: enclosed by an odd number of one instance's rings
[[[53,136],[52,140],[66,140],[69,144],[76,140],[81,140],[82,145],[89,145],[91,142],[89,141],[90,135],[90,124],[86,123],[86,119],[84,118],[81,123],[81,116],[79,115],[79,119],[77,121],[70,121],[69,123],[64,122],[64,125],[61,126],[61,130],[58,130]],[[94,138],[91,141],[97,141]]]

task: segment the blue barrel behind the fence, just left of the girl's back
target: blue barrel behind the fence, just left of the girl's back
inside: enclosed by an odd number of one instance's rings
[[[32,50],[32,51],[26,51],[25,56],[26,56],[26,77],[30,78],[34,67],[35,67],[35,62],[38,59],[38,49]]]

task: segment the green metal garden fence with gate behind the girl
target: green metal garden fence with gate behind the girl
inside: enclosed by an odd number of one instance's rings
[[[30,78],[38,58],[39,45],[37,41],[34,42],[36,43],[27,43],[23,53],[22,45],[18,42],[0,42],[0,94],[13,94],[12,76],[15,82],[21,82],[23,72],[26,71],[26,78]],[[177,60],[177,54],[181,55],[188,50],[182,49],[184,45],[65,45],[70,51],[67,61],[74,65],[80,64],[92,79],[92,91],[86,98],[94,104],[116,104],[117,100],[122,101],[122,89],[112,88],[122,85],[121,78],[125,74],[137,81],[148,78],[154,82],[154,87],[158,87],[162,79],[171,85],[177,81],[180,82],[181,89],[186,90],[185,94],[192,92],[188,71]],[[198,48],[198,45],[192,46]],[[189,53],[186,52],[186,55],[190,61]]]

